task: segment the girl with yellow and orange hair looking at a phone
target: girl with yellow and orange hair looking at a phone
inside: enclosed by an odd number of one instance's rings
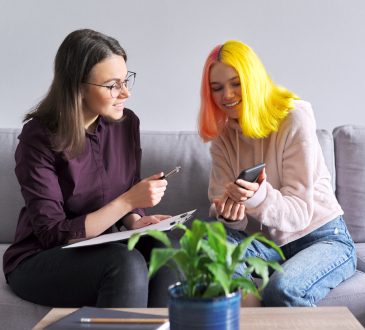
[[[315,306],[356,269],[354,243],[334,195],[312,107],[276,85],[255,52],[227,41],[209,54],[202,77],[200,135],[211,141],[211,215],[240,242],[261,231],[281,246],[283,272],[265,306]],[[257,182],[242,169],[266,164]],[[280,261],[258,241],[247,255]],[[237,269],[244,276],[245,265]]]

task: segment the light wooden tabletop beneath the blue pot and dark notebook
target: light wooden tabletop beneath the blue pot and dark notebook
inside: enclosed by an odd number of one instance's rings
[[[75,310],[75,308],[53,308],[33,330],[43,329]],[[119,308],[119,310],[167,316],[166,308]],[[240,329],[364,330],[347,307],[241,308]]]

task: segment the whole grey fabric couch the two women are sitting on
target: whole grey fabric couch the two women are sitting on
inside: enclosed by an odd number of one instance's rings
[[[23,204],[14,175],[18,134],[19,129],[0,129],[1,255],[13,240]],[[358,252],[356,274],[332,290],[319,305],[348,306],[365,325],[365,127],[348,125],[336,128],[333,134],[318,130],[317,135]],[[197,208],[196,217],[205,217],[209,208],[209,145],[202,143],[195,132],[145,131],[141,143],[142,176],[182,166],[182,172],[169,179],[167,193],[153,213],[173,215]],[[0,328],[29,329],[49,309],[15,296],[0,275]]]

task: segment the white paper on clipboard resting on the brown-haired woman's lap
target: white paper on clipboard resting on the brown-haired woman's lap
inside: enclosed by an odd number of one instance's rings
[[[126,231],[120,231],[117,233],[100,235],[100,236],[90,238],[90,239],[87,239],[87,240],[84,240],[81,242],[65,245],[62,248],[69,249],[69,248],[75,248],[75,247],[103,244],[103,243],[107,243],[107,242],[123,241],[123,240],[126,240],[129,237],[131,237],[134,233],[144,234],[148,229],[168,231],[168,230],[173,229],[177,224],[184,223],[185,221],[189,220],[195,211],[196,210],[191,210],[191,211],[188,211],[185,213],[181,213],[181,214],[175,215],[171,218],[168,218],[166,220],[163,220],[159,223],[155,223],[155,224],[152,224],[152,225],[149,225],[146,227],[126,230]]]

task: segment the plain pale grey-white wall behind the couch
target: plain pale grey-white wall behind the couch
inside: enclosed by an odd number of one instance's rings
[[[72,30],[116,37],[137,72],[128,102],[144,130],[195,130],[203,62],[228,39],[312,103],[317,125],[365,125],[364,0],[0,0],[0,127],[46,92]]]

